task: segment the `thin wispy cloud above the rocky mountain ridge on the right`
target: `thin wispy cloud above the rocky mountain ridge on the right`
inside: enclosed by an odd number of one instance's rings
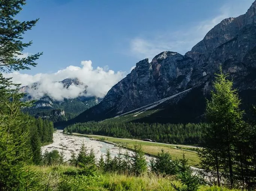
[[[223,19],[244,14],[253,1],[228,1],[229,3],[220,7],[219,14],[214,18],[197,22],[193,27],[151,34],[148,37],[134,37],[130,41],[130,53],[139,59],[149,58],[150,61],[155,55],[167,50],[184,54]]]

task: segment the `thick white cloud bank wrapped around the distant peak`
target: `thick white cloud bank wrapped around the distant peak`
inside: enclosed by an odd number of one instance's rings
[[[78,80],[88,86],[86,96],[102,98],[114,84],[125,76],[125,73],[121,71],[115,73],[113,70],[109,70],[108,67],[93,69],[92,61],[81,61],[81,67],[71,65],[51,74],[39,73],[29,75],[15,71],[14,73],[4,74],[4,76],[12,77],[12,81],[21,84],[21,86],[37,82],[38,90],[29,90],[30,95],[35,99],[47,94],[55,100],[62,101],[63,98],[76,98],[77,96],[84,95],[85,88],[84,85],[72,84],[66,89],[62,83],[57,83],[56,81],[62,81],[66,78],[78,78]]]

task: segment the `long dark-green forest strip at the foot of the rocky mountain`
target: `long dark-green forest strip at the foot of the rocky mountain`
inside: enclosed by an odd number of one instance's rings
[[[201,129],[206,124],[160,123],[76,123],[64,129],[68,133],[113,136],[117,138],[151,139],[171,144],[201,144]]]

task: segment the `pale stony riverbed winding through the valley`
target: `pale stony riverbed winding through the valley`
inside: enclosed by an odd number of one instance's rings
[[[76,155],[79,153],[79,150],[81,148],[81,145],[84,144],[87,146],[87,148],[90,150],[93,149],[95,153],[95,158],[98,160],[103,154],[105,158],[105,154],[107,153],[107,150],[110,150],[111,156],[114,157],[119,152],[119,147],[115,147],[113,144],[108,144],[102,141],[96,141],[89,139],[87,137],[83,136],[75,136],[75,135],[65,135],[62,133],[62,130],[57,130],[53,133],[53,143],[50,145],[46,145],[42,147],[42,153],[52,150],[58,150],[59,152],[62,152],[65,154],[65,160],[69,160],[71,158],[71,153],[74,152]],[[121,149],[122,154],[126,152],[126,149]],[[131,155],[133,152],[128,150],[128,153]],[[146,156],[146,160],[149,162],[150,158],[149,156]]]

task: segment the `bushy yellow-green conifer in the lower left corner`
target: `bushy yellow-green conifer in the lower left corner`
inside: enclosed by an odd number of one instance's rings
[[[0,113],[0,188],[11,190],[24,183],[32,153],[29,131],[22,120],[18,101],[13,98],[11,103],[1,102],[0,108],[6,105],[8,114]]]

